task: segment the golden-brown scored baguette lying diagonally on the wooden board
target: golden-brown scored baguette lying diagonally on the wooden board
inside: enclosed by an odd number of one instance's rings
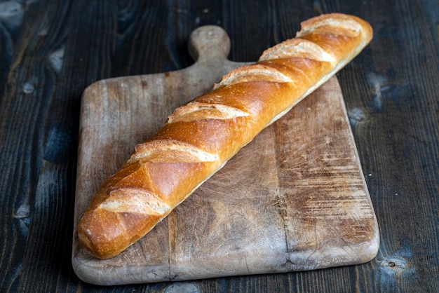
[[[295,39],[175,109],[97,191],[78,224],[83,247],[100,259],[126,250],[371,39],[370,25],[355,16],[311,18]]]

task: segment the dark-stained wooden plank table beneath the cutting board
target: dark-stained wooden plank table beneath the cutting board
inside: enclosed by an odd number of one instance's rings
[[[367,264],[98,287],[71,265],[81,94],[182,69],[189,34],[224,27],[255,61],[320,13],[368,20],[339,74],[381,245]],[[352,1],[0,1],[1,292],[435,292],[439,288],[439,4]],[[436,291],[437,292],[437,291]]]

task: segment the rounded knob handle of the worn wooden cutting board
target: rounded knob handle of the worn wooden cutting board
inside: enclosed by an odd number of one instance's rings
[[[205,25],[191,33],[188,46],[189,53],[195,61],[227,60],[230,38],[222,27]]]

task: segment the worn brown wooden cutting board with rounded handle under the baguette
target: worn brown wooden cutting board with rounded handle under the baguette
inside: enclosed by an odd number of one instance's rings
[[[242,63],[219,27],[196,29],[195,64],[98,81],[83,93],[74,231],[93,193],[180,104]],[[147,236],[117,257],[72,264],[97,285],[281,273],[360,264],[379,232],[334,77],[244,147]]]

